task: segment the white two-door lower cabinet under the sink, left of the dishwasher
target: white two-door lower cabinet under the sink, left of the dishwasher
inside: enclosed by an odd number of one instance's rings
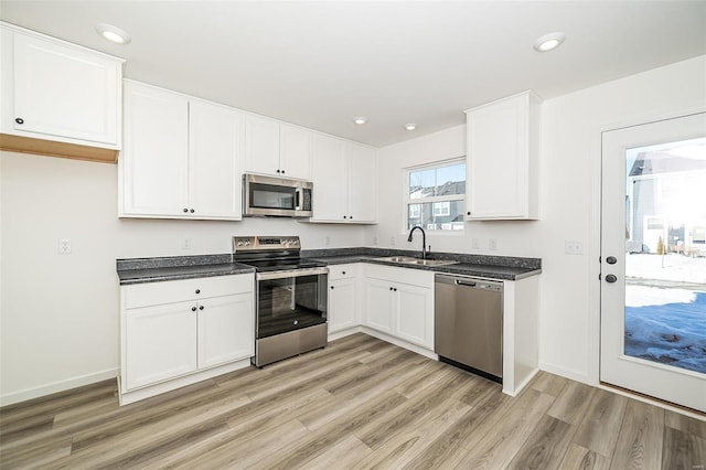
[[[363,325],[434,350],[434,273],[365,266]]]

